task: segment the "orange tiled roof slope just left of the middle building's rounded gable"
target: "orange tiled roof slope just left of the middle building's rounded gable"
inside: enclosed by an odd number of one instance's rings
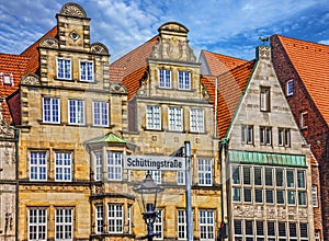
[[[128,90],[128,100],[140,87],[140,80],[147,70],[147,58],[157,42],[158,36],[155,36],[110,65],[110,81],[120,81],[125,84]]]

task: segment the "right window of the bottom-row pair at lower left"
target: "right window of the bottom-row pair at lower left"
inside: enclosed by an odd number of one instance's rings
[[[55,240],[73,240],[72,208],[56,208]]]

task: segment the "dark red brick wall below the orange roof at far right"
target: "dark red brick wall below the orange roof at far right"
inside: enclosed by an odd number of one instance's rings
[[[272,61],[276,76],[284,91],[287,80],[294,80],[294,94],[287,96],[288,104],[295,116],[296,123],[299,125],[300,113],[308,112],[308,128],[302,129],[302,134],[306,141],[310,144],[313,153],[319,163],[320,190],[321,190],[321,209],[315,209],[316,228],[320,228],[322,210],[324,236],[325,240],[329,240],[329,129],[327,123],[321,117],[316,105],[306,91],[299,76],[294,66],[290,61],[284,48],[282,47],[276,35],[271,36]],[[313,180],[317,180],[317,171],[313,172]]]

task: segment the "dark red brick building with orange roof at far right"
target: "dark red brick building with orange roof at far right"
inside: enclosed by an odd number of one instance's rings
[[[319,164],[321,185],[313,186],[314,195],[318,193],[321,200],[321,206],[315,207],[316,232],[320,240],[328,240],[329,46],[273,35],[271,47],[273,65],[282,90],[298,128],[310,145]]]

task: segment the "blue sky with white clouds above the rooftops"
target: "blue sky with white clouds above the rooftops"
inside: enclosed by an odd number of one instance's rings
[[[0,0],[0,53],[20,54],[53,26],[63,0]],[[190,45],[253,59],[259,36],[284,36],[329,44],[325,0],[77,0],[91,18],[91,43],[107,46],[110,61],[175,21],[189,30]]]

